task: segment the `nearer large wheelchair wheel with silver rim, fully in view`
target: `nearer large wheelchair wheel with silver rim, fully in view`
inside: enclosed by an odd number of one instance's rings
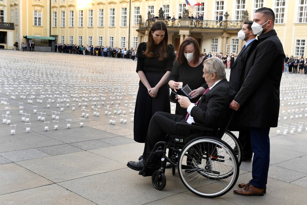
[[[238,159],[224,141],[199,137],[181,150],[178,173],[192,193],[201,197],[220,197],[231,190],[238,179]]]

